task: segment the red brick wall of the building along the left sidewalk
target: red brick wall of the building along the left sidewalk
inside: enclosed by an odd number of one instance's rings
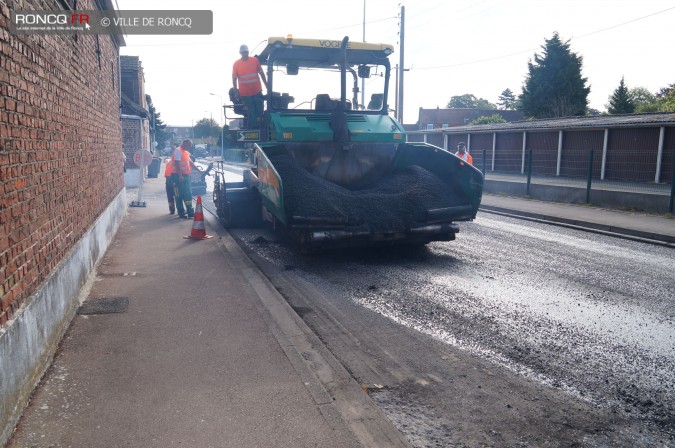
[[[124,186],[111,36],[13,35],[0,2],[0,325]],[[80,0],[78,9],[96,9]]]

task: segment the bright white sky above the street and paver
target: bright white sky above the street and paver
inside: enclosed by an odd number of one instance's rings
[[[394,66],[402,22],[405,124],[417,122],[419,108],[443,108],[455,95],[496,103],[507,88],[520,94],[528,62],[554,32],[583,58],[589,107],[606,110],[622,77],[629,88],[652,93],[675,83],[675,0],[114,2],[119,10],[213,11],[211,35],[125,37],[121,54],[139,56],[146,93],[173,126],[223,122],[220,105],[228,100],[241,44],[257,54],[270,36],[363,41],[365,28],[366,42],[394,45]],[[393,85],[388,103],[395,104]]]

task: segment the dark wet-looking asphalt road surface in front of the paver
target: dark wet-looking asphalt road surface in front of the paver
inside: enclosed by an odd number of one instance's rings
[[[421,250],[232,233],[415,446],[675,443],[672,249],[488,213]]]

